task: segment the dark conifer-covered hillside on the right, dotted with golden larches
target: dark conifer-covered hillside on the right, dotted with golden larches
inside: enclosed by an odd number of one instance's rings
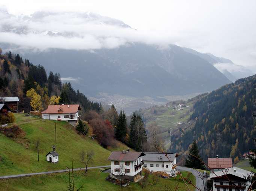
[[[177,129],[171,137],[172,151],[186,151],[197,140],[204,159],[241,157],[256,137],[256,75],[227,84],[196,101],[190,120],[195,126]]]

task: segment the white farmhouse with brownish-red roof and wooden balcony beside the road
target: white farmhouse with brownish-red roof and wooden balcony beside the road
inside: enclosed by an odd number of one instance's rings
[[[141,176],[142,152],[130,152],[129,149],[123,151],[113,151],[108,160],[111,160],[111,173],[117,178],[123,176],[134,182],[136,176]]]

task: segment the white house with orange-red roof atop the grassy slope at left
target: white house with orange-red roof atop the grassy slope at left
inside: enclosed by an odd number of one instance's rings
[[[78,111],[80,110],[81,108],[79,104],[49,105],[48,108],[42,112],[42,118],[49,120],[64,120],[71,125],[75,125],[78,119],[80,119],[80,115],[78,115]]]

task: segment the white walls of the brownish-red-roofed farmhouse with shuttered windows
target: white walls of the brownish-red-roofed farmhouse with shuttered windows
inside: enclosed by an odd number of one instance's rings
[[[115,162],[119,162],[118,165],[115,165]],[[127,165],[126,162],[129,162],[130,165]],[[124,175],[125,169],[129,169],[130,172],[126,172],[125,176],[135,176],[142,171],[142,166],[135,171],[135,165],[139,165],[142,162],[142,158],[139,157],[136,161],[111,161],[111,173],[114,175]],[[116,172],[116,169],[123,169],[123,172]],[[127,170],[126,170],[127,171]]]

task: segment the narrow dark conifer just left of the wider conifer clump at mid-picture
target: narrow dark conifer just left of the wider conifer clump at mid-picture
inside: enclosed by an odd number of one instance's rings
[[[117,127],[115,129],[115,137],[117,140],[120,140],[121,142],[124,142],[125,136],[126,136],[126,114],[124,111],[120,110],[120,114],[117,121]]]

